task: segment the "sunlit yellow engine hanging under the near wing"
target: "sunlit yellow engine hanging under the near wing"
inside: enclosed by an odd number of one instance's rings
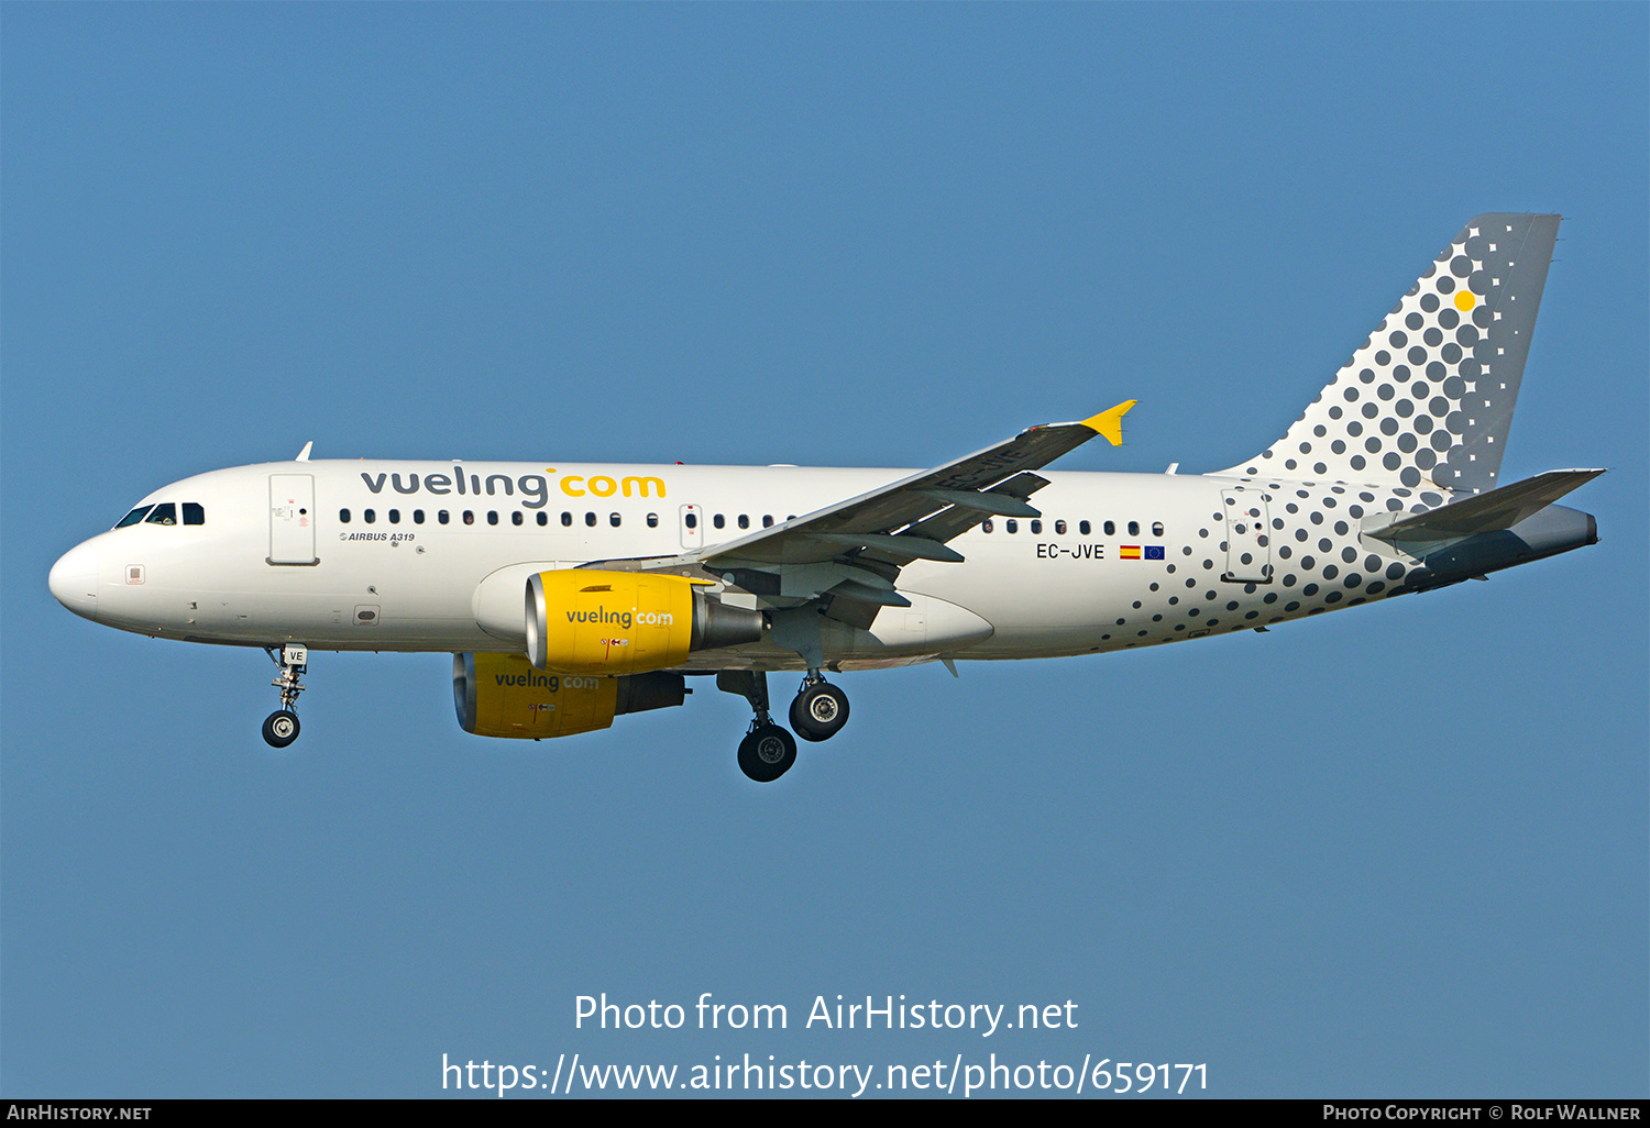
[[[648,572],[538,572],[526,582],[526,656],[538,670],[612,676],[762,638],[761,612],[724,607],[705,587]]]

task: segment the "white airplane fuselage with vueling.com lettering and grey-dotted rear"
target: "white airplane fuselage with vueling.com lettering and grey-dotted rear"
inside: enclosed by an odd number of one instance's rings
[[[906,473],[365,460],[238,467],[140,503],[198,505],[200,524],[178,518],[102,533],[53,569],[53,590],[87,618],[163,638],[520,653],[515,617],[533,571],[711,548]],[[1361,538],[1360,518],[1445,500],[1393,486],[1204,475],[1046,477],[1031,498],[1043,515],[1036,523],[993,518],[990,531],[950,541],[962,564],[909,564],[899,592],[912,607],[883,609],[870,630],[828,628],[827,663],[1077,655],[1361,604],[1402,590],[1416,562]],[[700,651],[683,668],[800,665],[764,642]]]

